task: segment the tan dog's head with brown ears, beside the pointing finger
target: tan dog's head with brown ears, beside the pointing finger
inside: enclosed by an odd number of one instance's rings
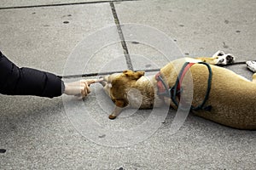
[[[118,107],[125,107],[129,104],[127,93],[135,85],[140,77],[144,76],[144,71],[123,71],[113,73],[103,77],[102,86],[105,92]]]

